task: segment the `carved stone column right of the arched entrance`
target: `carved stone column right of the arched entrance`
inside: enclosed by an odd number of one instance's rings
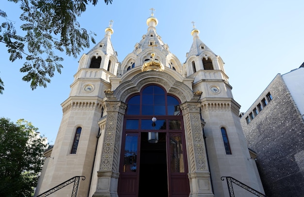
[[[200,102],[185,102],[181,104],[181,109],[184,115],[190,197],[214,197],[203,139]]]

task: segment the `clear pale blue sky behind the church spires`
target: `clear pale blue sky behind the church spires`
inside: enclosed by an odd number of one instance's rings
[[[113,0],[109,5],[99,0],[78,21],[97,33],[99,42],[114,20],[111,41],[122,62],[147,33],[150,8],[158,19],[157,33],[181,63],[191,47],[191,22],[195,22],[200,39],[223,59],[241,112],[247,111],[278,73],[285,74],[304,62],[303,0]],[[17,4],[1,0],[0,9],[16,21],[16,27],[22,24]],[[89,50],[84,49],[76,59],[62,54],[62,74],[56,73],[47,88],[32,91],[21,80],[24,60],[9,62],[7,49],[0,44],[0,77],[5,85],[0,117],[32,122],[53,144],[62,118],[61,103],[68,99],[80,56]]]

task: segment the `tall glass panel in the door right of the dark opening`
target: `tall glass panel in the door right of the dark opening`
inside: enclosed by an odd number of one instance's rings
[[[185,172],[182,136],[170,133],[170,168],[171,173]]]

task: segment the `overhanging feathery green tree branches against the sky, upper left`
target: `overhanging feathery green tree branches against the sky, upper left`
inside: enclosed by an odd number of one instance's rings
[[[12,21],[0,10],[0,16],[5,19],[0,26],[0,43],[7,47],[11,62],[25,56],[26,62],[20,72],[26,73],[22,80],[30,82],[32,90],[37,86],[47,87],[54,73],[61,73],[63,58],[55,51],[76,58],[84,48],[89,48],[90,40],[95,43],[95,33],[80,28],[76,18],[81,16],[88,3],[95,6],[98,0],[8,1],[20,4],[23,13],[19,18],[24,21],[20,28],[25,35],[17,34]],[[112,0],[104,2],[108,4]],[[0,79],[0,94],[3,90],[4,83]]]

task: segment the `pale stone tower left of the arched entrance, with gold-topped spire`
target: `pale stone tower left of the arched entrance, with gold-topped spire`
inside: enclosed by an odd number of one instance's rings
[[[85,176],[80,181],[78,196],[88,195],[92,168],[95,161],[99,119],[104,110],[104,90],[111,88],[111,77],[118,72],[118,59],[111,43],[112,24],[105,29],[104,38],[79,61],[74,82],[67,100],[61,105],[63,117],[51,152],[41,187],[41,194],[74,176]],[[71,184],[72,185],[72,184]],[[66,186],[56,194],[70,196],[72,186]]]

